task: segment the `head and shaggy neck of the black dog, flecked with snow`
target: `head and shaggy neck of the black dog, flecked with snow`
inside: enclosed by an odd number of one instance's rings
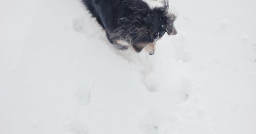
[[[155,52],[155,44],[158,39],[167,33],[177,34],[174,28],[175,15],[169,13],[168,0],[154,4],[154,7],[147,1],[156,0],[125,0],[123,16],[118,19],[118,27],[114,36],[126,42],[136,52],[141,52],[145,47],[150,55]]]

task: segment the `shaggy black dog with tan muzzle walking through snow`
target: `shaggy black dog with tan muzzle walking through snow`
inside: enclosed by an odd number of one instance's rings
[[[175,15],[169,13],[168,0],[82,0],[106,31],[109,42],[120,50],[132,46],[136,52],[153,55],[156,41],[165,32],[177,34]]]

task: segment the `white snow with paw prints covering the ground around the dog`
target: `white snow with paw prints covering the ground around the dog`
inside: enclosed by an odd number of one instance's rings
[[[255,134],[256,1],[170,5],[150,56],[79,0],[1,0],[0,134]]]

